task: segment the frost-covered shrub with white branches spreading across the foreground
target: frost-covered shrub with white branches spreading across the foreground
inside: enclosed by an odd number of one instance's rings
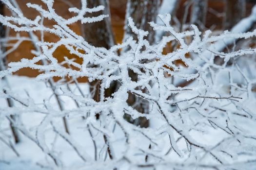
[[[63,100],[72,99],[77,104],[77,107],[67,107],[60,103],[63,108],[59,109],[51,97],[38,103],[30,95],[20,96],[3,86],[1,98],[10,98],[16,105],[1,107],[0,121],[13,121],[24,138],[22,142],[34,142],[38,152],[34,154],[45,154],[45,159],[36,160],[39,167],[61,170],[256,168],[256,100],[252,92],[256,79],[253,73],[249,74],[256,70],[253,62],[256,49],[246,46],[222,52],[227,44],[255,38],[256,30],[243,32],[256,21],[256,7],[250,17],[241,21],[242,26],[237,25],[231,32],[219,35],[212,35],[211,31],[202,34],[195,25],[178,33],[170,25],[170,15],[160,15],[160,25],[150,24],[155,31],[170,35],[153,45],[145,38],[148,32],[137,29],[129,18],[129,26],[138,35],[138,41],[129,37],[107,50],[91,46],[69,28],[76,22],[86,24],[107,17],[83,17],[85,13],[102,10],[103,6],[88,9],[86,1],[82,0],[81,9],[69,9],[77,15],[65,19],[56,14],[54,0],[41,0],[47,8],[28,3],[27,6],[36,9],[41,16],[54,20],[56,24],[49,28],[42,24],[40,16],[24,17],[15,3],[10,2],[12,0],[1,1],[12,11],[13,17],[0,16],[0,22],[17,33],[28,32],[30,38],[26,39],[34,43],[35,57],[9,63],[6,70],[0,71],[0,77],[21,68],[39,69],[37,80],[51,86],[54,95]],[[56,35],[59,41],[45,42],[33,34],[37,31]],[[162,54],[172,41],[176,41],[179,48]],[[59,63],[58,56],[54,55],[59,46],[65,46],[71,54],[80,57],[82,63],[68,58]],[[121,49],[126,50],[118,55]],[[216,64],[216,57],[223,58],[223,63]],[[243,57],[249,59],[243,60]],[[182,60],[185,66],[177,66],[177,60]],[[249,66],[241,65],[248,61]],[[138,76],[136,81],[129,76],[129,69]],[[62,79],[55,83],[53,77]],[[66,77],[75,81],[73,88],[65,85]],[[79,77],[100,80],[99,102],[79,88],[76,81]],[[114,81],[118,82],[118,89],[106,98],[104,92]],[[79,92],[75,92],[74,86]],[[146,113],[140,113],[136,106],[127,103],[129,95],[144,101],[148,108],[144,109]],[[31,127],[22,119],[11,119],[11,115],[29,114],[38,115],[40,122]],[[125,114],[132,119],[149,119],[149,127],[140,128],[129,123],[124,119]],[[70,135],[60,123],[62,118],[70,122]],[[60,141],[68,146],[59,144]],[[16,146],[9,146],[20,155],[17,160],[35,161],[33,155],[29,157],[22,153],[26,151],[19,152]],[[26,147],[29,150],[29,146]],[[69,155],[74,156],[74,153],[78,157],[72,160]],[[10,164],[17,162],[15,156],[5,159],[7,163],[8,160]]]

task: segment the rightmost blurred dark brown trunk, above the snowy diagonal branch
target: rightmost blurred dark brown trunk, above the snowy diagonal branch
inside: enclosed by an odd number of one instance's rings
[[[246,0],[226,0],[225,17],[223,20],[224,29],[230,30],[238,23],[246,12]]]

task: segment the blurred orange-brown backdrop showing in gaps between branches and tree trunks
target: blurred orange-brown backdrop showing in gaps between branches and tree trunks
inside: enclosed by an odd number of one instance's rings
[[[256,4],[256,0],[245,0],[246,1],[246,12],[245,16],[249,16],[252,10],[253,5]],[[39,15],[39,13],[32,9],[28,8],[26,6],[26,3],[37,3],[43,5],[40,0],[17,0],[17,2],[20,5],[21,10],[24,13],[24,16],[34,19],[36,16]],[[110,6],[110,14],[111,14],[111,26],[114,33],[115,43],[121,43],[124,35],[124,24],[125,24],[125,14],[126,14],[126,6],[127,6],[127,0],[109,0],[109,6]],[[186,4],[188,3],[188,0],[180,0],[176,16],[179,21],[182,20],[185,10],[186,10]],[[230,4],[232,5],[232,3]],[[55,0],[54,8],[56,9],[56,12],[64,17],[69,18],[74,15],[74,13],[68,12],[68,8],[70,7],[77,7],[80,6],[80,0]],[[229,8],[229,7],[228,7]],[[230,9],[232,7],[230,6]],[[189,22],[190,20],[190,10],[191,7],[188,8],[188,16],[186,22]],[[207,9],[207,16],[206,16],[206,23],[205,23],[205,29],[210,29],[212,31],[218,31],[223,30],[223,18],[225,17],[225,0],[208,0],[208,9]],[[234,17],[236,16],[236,11],[231,12]],[[10,11],[8,9],[4,9],[4,15],[8,16],[11,15]],[[231,16],[232,17],[232,16]],[[237,16],[236,16],[237,17]],[[238,16],[239,17],[239,16]],[[239,20],[239,18],[238,18]],[[54,22],[51,20],[47,20],[44,18],[44,25],[51,27],[54,24]],[[70,25],[70,28],[76,32],[77,34],[81,35],[81,26],[79,23]],[[15,36],[16,33],[13,30],[8,30],[9,35]],[[36,33],[38,36],[40,36],[39,33]],[[20,33],[20,36],[27,36],[27,33]],[[44,40],[49,42],[58,41],[58,37],[55,37],[52,34],[44,34]],[[33,50],[33,45],[29,41],[24,41],[20,44],[17,50],[13,51],[7,56],[8,62],[17,62],[20,61],[21,58],[33,58],[33,54],[31,53],[31,50]],[[63,57],[67,56],[68,58],[76,58],[77,62],[81,62],[81,59],[77,58],[77,56],[69,54],[69,51],[64,47],[59,47],[57,51],[54,53],[55,56],[57,56],[59,62],[63,61]],[[38,75],[38,70],[30,69],[30,68],[23,68],[20,69],[16,74],[18,75],[24,75],[28,77],[35,77]],[[80,81],[87,81],[86,78],[80,79]]]

